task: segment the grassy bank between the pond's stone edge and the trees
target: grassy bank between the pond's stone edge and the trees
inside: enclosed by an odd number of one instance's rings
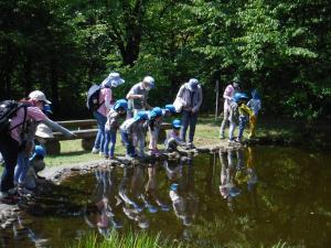
[[[214,117],[201,117],[195,131],[195,145],[209,145],[220,142],[218,131],[222,119],[215,121]],[[247,137],[247,132],[244,133]],[[265,144],[280,144],[308,147],[318,150],[330,149],[331,128],[328,125],[307,127],[305,123],[291,120],[260,119],[257,126],[257,138]],[[159,144],[162,149],[163,144]],[[117,136],[116,154],[125,154],[125,149]],[[47,166],[88,162],[103,159],[98,154],[86,152],[81,147],[81,140],[61,141],[61,154],[47,155],[45,162]],[[0,168],[0,172],[2,168]]]

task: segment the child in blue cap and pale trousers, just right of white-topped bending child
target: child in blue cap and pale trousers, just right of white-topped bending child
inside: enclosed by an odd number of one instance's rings
[[[151,154],[160,154],[160,151],[158,149],[158,137],[159,131],[162,122],[162,109],[159,107],[154,107],[149,112],[149,121],[148,121],[148,129],[150,133],[150,140],[149,140],[149,150],[151,151]]]

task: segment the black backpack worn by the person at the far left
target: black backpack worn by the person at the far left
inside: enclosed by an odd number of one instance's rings
[[[17,115],[17,111],[22,107],[25,107],[25,104],[18,103],[15,100],[3,100],[0,103],[0,137],[9,134],[12,129],[15,129],[17,127],[25,122],[26,108],[25,108],[23,122],[17,125],[15,127],[9,128],[11,119]]]

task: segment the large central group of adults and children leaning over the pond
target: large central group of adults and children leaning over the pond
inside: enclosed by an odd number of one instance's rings
[[[173,104],[163,108],[151,107],[148,104],[148,94],[156,87],[154,78],[146,76],[134,85],[126,99],[113,100],[111,88],[125,80],[118,73],[110,73],[102,83],[98,95],[98,106],[93,109],[93,115],[98,123],[98,133],[92,150],[106,159],[115,158],[117,131],[126,147],[126,158],[146,157],[146,136],[149,131],[149,145],[151,154],[158,155],[158,137],[163,118],[182,112],[182,121],[174,119],[172,130],[168,133],[166,149],[173,150],[178,145],[193,149],[193,138],[197,120],[197,112],[202,104],[202,88],[197,79],[191,78],[183,84]],[[125,118],[126,117],[126,118]],[[121,123],[120,120],[125,119]],[[190,127],[186,142],[186,131]]]

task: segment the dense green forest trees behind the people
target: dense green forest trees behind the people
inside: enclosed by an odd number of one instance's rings
[[[222,97],[237,77],[266,116],[330,121],[330,62],[328,0],[0,1],[0,99],[41,89],[55,119],[90,117],[87,89],[117,71],[116,98],[151,75],[164,106],[196,77],[214,112],[215,82]]]

